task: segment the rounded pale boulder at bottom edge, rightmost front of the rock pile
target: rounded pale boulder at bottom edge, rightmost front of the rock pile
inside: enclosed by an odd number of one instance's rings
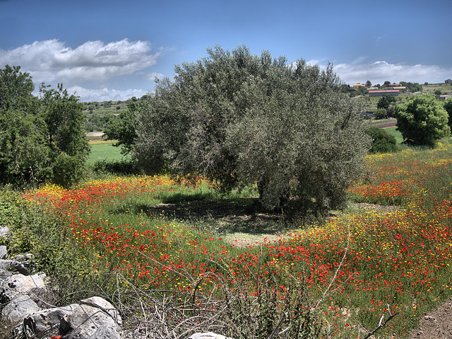
[[[88,339],[101,326],[119,330],[117,323],[105,311],[82,304],[61,319],[60,332],[65,333],[64,339]]]

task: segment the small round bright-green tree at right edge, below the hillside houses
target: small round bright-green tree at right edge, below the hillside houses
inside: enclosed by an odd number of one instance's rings
[[[396,106],[397,130],[408,144],[433,146],[451,133],[443,104],[429,94],[412,96]]]

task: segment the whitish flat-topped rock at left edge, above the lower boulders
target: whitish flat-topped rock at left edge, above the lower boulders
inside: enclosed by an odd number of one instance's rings
[[[44,275],[11,275],[1,282],[0,303],[7,304],[19,294],[28,294],[35,301],[45,292]]]

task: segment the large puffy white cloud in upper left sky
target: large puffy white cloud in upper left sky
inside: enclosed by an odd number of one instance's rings
[[[54,39],[0,50],[0,64],[20,65],[36,82],[102,83],[155,65],[162,52],[150,51],[150,42],[140,40],[88,41],[71,48]]]

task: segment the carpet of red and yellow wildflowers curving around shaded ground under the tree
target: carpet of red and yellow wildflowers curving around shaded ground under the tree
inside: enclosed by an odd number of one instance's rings
[[[22,196],[56,221],[66,251],[87,264],[87,274],[121,275],[105,280],[105,290],[158,290],[198,307],[208,299],[203,306],[210,311],[219,307],[213,300],[239,307],[232,295],[270,291],[289,327],[304,314],[299,326],[313,321],[324,337],[364,338],[364,328],[393,316],[376,335],[404,338],[452,296],[452,145],[367,156],[367,168],[348,190],[347,210],[248,246],[234,246],[194,220],[167,217],[158,205],[220,199],[202,178],[111,177]],[[162,213],[150,212],[156,205]],[[294,299],[295,286],[302,296]],[[151,311],[141,307],[136,316]]]

